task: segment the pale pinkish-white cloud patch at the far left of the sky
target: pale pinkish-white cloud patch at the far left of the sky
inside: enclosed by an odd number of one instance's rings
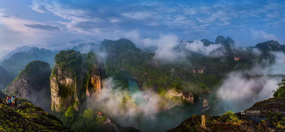
[[[0,52],[10,51],[23,45],[42,46],[49,43],[51,37],[56,38],[62,33],[58,32],[60,29],[56,25],[47,25],[2,12],[0,12],[0,27]]]

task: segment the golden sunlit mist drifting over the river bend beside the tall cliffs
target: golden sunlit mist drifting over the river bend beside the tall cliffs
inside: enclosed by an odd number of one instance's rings
[[[148,114],[143,114],[142,110],[152,109],[145,101],[135,101],[139,95],[142,96],[140,92],[129,93],[128,89],[117,87],[113,78],[109,77],[102,80],[100,95],[91,96],[91,100],[95,100],[92,106],[103,111],[116,122],[120,122],[120,125],[135,127],[139,118],[148,116]],[[157,100],[153,99],[153,101]]]

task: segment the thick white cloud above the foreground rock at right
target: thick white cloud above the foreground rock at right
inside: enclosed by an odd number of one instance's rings
[[[248,109],[254,103],[272,98],[272,91],[278,88],[280,77],[257,76],[247,78],[246,72],[236,71],[228,74],[223,84],[218,88],[217,109],[220,112],[235,110],[240,112]]]

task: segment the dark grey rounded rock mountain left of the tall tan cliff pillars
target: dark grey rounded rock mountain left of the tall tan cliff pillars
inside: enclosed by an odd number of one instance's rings
[[[34,105],[49,111],[51,105],[49,76],[50,65],[35,60],[25,66],[17,78],[11,82],[4,93],[26,98]]]

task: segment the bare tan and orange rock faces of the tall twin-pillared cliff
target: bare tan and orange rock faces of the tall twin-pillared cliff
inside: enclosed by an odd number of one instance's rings
[[[51,110],[60,112],[67,111],[69,106],[73,106],[76,111],[80,111],[83,101],[91,101],[92,96],[99,96],[101,92],[101,71],[97,64],[91,69],[91,76],[88,78],[87,69],[77,71],[77,78],[67,70],[60,70],[56,64],[54,69],[56,76],[50,79],[51,90]],[[102,75],[102,76],[101,76]]]

